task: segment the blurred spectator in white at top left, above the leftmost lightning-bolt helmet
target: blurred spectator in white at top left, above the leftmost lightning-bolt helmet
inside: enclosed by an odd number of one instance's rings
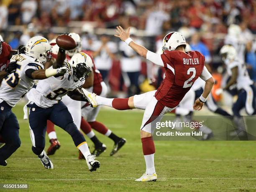
[[[22,12],[22,23],[29,23],[31,19],[36,14],[37,2],[36,0],[25,0],[21,4]]]

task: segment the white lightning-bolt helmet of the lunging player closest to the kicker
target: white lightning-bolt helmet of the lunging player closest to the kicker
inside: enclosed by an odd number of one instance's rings
[[[75,53],[69,63],[73,68],[73,75],[76,81],[83,81],[92,72],[92,59],[86,53]]]

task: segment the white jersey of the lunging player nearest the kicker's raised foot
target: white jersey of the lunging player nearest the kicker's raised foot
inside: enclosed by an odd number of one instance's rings
[[[58,103],[68,92],[80,88],[85,80],[74,81],[73,69],[69,63],[66,62],[66,65],[71,69],[71,74],[67,72],[61,77],[51,76],[40,80],[36,88],[32,88],[28,92],[28,100],[34,102],[39,107],[49,108]]]

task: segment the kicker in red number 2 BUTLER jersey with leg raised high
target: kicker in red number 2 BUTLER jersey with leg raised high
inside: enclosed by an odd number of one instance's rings
[[[194,110],[201,110],[214,85],[214,79],[205,67],[205,57],[200,52],[184,51],[186,40],[181,33],[172,32],[164,37],[164,53],[160,55],[133,42],[129,31],[128,29],[125,32],[121,26],[118,26],[115,36],[125,41],[139,55],[166,69],[166,76],[157,91],[126,99],[108,99],[85,89],[82,90],[93,107],[105,105],[119,110],[145,109],[141,124],[141,142],[146,162],[146,173],[136,181],[156,181],[155,146],[152,140],[155,127],[151,127],[151,123],[155,120],[160,121],[164,114],[175,109],[199,76],[205,81],[205,89],[200,98],[195,101]]]

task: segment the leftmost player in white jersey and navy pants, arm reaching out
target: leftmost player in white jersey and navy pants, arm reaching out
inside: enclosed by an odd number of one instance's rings
[[[8,159],[20,147],[19,124],[12,107],[32,88],[35,79],[45,79],[63,74],[67,67],[44,70],[43,63],[51,60],[51,47],[41,36],[31,38],[26,44],[25,53],[12,56],[16,71],[3,79],[0,87],[0,134],[5,146],[0,148],[0,165],[6,166]]]

